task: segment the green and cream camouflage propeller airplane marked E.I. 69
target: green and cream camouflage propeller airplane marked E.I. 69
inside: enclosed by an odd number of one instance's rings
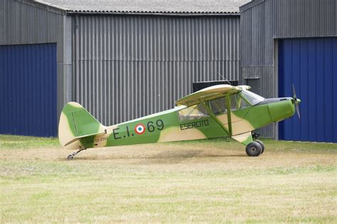
[[[248,156],[264,152],[264,144],[253,132],[269,123],[290,118],[301,102],[293,97],[264,99],[250,86],[210,86],[176,101],[167,111],[154,113],[117,125],[105,126],[79,103],[65,104],[60,114],[60,144],[73,159],[82,150],[95,147],[134,145],[181,140],[227,137],[245,145]]]

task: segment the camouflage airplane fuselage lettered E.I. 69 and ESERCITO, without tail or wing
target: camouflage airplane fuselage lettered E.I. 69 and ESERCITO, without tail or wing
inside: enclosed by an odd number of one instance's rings
[[[229,136],[235,138],[294,114],[291,98],[266,99],[255,106],[230,111],[230,118],[229,113],[215,115],[208,102],[204,102],[203,106],[209,113],[200,117],[193,114],[183,117],[181,111],[188,107],[178,106],[168,111],[104,127],[104,133],[81,138],[78,143],[80,147],[92,148]],[[242,143],[245,144],[244,141]]]

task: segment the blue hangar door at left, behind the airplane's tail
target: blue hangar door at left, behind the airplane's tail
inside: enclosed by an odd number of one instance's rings
[[[0,134],[57,135],[56,44],[0,46]]]

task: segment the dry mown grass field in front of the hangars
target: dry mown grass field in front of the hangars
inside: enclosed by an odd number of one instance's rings
[[[0,135],[0,222],[337,223],[337,144],[264,140],[110,147]]]

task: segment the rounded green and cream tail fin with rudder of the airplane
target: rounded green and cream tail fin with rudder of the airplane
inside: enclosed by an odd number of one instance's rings
[[[65,104],[60,115],[58,138],[63,147],[75,149],[80,146],[80,138],[105,132],[105,126],[96,120],[79,103]]]

